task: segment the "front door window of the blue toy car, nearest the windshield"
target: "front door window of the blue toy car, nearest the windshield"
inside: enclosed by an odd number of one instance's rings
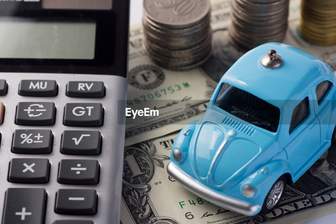
[[[309,115],[309,100],[304,98],[293,110],[289,134]]]

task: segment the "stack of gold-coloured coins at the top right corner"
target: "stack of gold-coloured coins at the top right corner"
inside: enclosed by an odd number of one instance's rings
[[[336,0],[301,0],[300,33],[313,44],[336,44]]]

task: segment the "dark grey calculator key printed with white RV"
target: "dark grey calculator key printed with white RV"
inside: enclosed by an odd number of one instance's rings
[[[67,85],[67,96],[101,98],[105,96],[105,86],[99,81],[70,81]]]

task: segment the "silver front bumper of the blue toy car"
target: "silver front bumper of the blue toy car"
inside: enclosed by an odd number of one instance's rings
[[[169,162],[167,165],[167,172],[169,176],[181,183],[185,188],[200,195],[203,199],[216,204],[227,210],[237,212],[247,216],[253,216],[260,212],[261,207],[255,204],[250,204],[244,201],[240,201],[228,196],[214,192],[205,185],[195,181],[190,176],[181,171],[174,163]]]

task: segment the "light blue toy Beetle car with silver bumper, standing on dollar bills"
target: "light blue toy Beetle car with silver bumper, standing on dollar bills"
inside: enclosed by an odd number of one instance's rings
[[[228,210],[272,211],[286,184],[335,144],[335,86],[330,66],[307,52],[254,48],[224,74],[201,119],[178,134],[168,174]]]

